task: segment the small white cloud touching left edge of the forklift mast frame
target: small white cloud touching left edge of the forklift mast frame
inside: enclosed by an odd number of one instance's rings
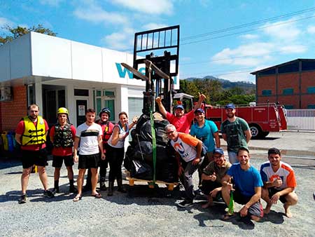
[[[114,32],[104,36],[102,41],[106,44],[106,47],[116,50],[132,50],[134,42],[134,29],[125,28],[122,32]]]

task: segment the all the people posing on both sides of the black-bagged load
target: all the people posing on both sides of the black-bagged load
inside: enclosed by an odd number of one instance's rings
[[[295,194],[296,180],[293,169],[281,161],[279,149],[268,150],[269,161],[262,163],[260,172],[250,163],[248,142],[251,131],[244,119],[235,116],[234,104],[225,107],[227,119],[221,124],[223,139],[227,142],[229,161],[225,160],[221,149],[218,128],[213,121],[205,119],[202,101],[205,96],[200,94],[199,100],[192,111],[184,113],[182,104],[174,107],[174,114],[166,111],[160,97],[155,102],[160,113],[167,118],[169,125],[165,133],[176,151],[179,164],[179,178],[185,188],[185,197],[178,205],[188,208],[193,205],[196,196],[193,186],[193,173],[199,173],[199,189],[207,196],[207,203],[203,208],[209,208],[214,200],[223,198],[231,206],[231,198],[243,205],[239,214],[258,221],[263,213],[267,214],[277,201],[283,203],[285,214],[290,217],[290,205],[297,203]],[[53,144],[52,166],[55,167],[54,189],[48,189],[45,172],[47,151],[45,149],[48,124],[38,116],[39,107],[31,104],[28,116],[18,123],[15,140],[22,149],[22,195],[19,203],[27,201],[27,184],[33,165],[38,167],[38,175],[43,184],[44,196],[52,198],[59,192],[59,175],[62,163],[66,165],[69,177],[69,192],[75,193],[74,202],[80,201],[83,194],[83,181],[88,169],[89,175],[85,187],[90,187],[91,195],[101,198],[97,191],[98,167],[100,190],[106,188],[106,169],[109,163],[108,196],[113,195],[114,182],[117,180],[118,191],[125,192],[121,165],[125,155],[125,138],[130,129],[137,123],[137,117],[128,123],[128,116],[120,112],[119,122],[109,121],[111,111],[108,108],[99,112],[99,120],[95,121],[94,109],[85,112],[85,123],[74,128],[69,123],[69,112],[62,107],[57,110],[57,123],[50,129],[50,140]],[[195,120],[195,123],[193,121]],[[193,125],[192,125],[193,123]],[[207,151],[204,150],[207,147]],[[73,162],[78,162],[77,189],[73,185]],[[89,178],[90,177],[90,178]],[[265,210],[262,209],[260,198],[266,201]],[[235,217],[230,210],[222,218],[228,220]]]

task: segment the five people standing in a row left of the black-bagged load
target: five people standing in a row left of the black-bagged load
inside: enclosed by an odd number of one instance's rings
[[[98,167],[100,167],[100,189],[106,190],[106,169],[109,170],[108,196],[113,196],[114,182],[117,180],[118,191],[125,192],[121,165],[125,155],[125,138],[130,129],[137,123],[137,117],[128,123],[128,116],[120,112],[119,122],[113,124],[109,121],[111,111],[104,108],[99,113],[99,120],[95,121],[94,109],[85,111],[85,123],[75,128],[69,122],[68,109],[61,107],[57,110],[57,123],[50,129],[49,137],[52,142],[52,166],[55,168],[54,189],[48,189],[48,179],[45,165],[48,161],[46,141],[48,136],[48,123],[39,116],[37,104],[28,107],[28,116],[18,123],[15,130],[15,140],[20,144],[22,151],[22,195],[19,203],[27,201],[27,185],[33,165],[37,166],[38,175],[43,184],[44,196],[53,198],[59,193],[59,176],[62,163],[66,165],[69,178],[69,192],[76,194],[74,202],[80,201],[83,192],[85,171],[90,172],[90,180],[86,186],[90,186],[91,194],[95,198],[102,195],[97,191]],[[80,158],[78,158],[80,156]],[[73,182],[73,164],[78,163],[77,188]]]

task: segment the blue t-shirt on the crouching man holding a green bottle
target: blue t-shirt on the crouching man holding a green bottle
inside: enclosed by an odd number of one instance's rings
[[[233,164],[227,172],[233,177],[233,182],[241,194],[251,197],[255,194],[255,187],[262,187],[260,173],[251,166],[248,170],[242,170],[239,163]]]

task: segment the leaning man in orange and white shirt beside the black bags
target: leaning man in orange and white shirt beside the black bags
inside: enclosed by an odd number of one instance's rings
[[[165,133],[171,141],[172,147],[177,152],[176,158],[179,162],[179,177],[185,187],[186,198],[178,205],[181,208],[188,208],[193,205],[195,198],[193,186],[193,173],[198,169],[203,157],[202,141],[186,134],[178,133],[174,125],[169,124],[165,127]],[[180,157],[182,160],[180,161]]]

